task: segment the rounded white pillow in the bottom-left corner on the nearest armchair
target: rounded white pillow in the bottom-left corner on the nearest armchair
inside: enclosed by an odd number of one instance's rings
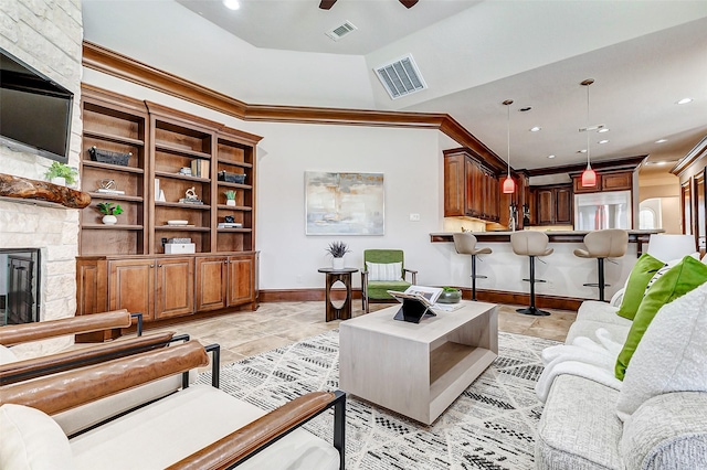
[[[75,469],[68,439],[49,415],[29,406],[0,406],[0,463],[3,469]]]

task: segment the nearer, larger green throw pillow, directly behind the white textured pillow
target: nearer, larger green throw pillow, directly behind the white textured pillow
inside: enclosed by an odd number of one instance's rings
[[[631,331],[629,331],[629,338],[626,338],[626,342],[616,359],[616,366],[614,368],[616,378],[623,381],[631,356],[661,307],[684,296],[705,281],[707,281],[707,265],[699,263],[692,256],[686,256],[680,263],[653,282],[641,306],[639,306],[639,311],[636,311],[636,316],[633,319]]]

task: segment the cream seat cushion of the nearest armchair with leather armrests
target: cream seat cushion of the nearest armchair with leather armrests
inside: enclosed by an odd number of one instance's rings
[[[208,385],[193,385],[70,440],[78,469],[162,469],[265,412]],[[338,469],[339,453],[296,429],[240,469]]]

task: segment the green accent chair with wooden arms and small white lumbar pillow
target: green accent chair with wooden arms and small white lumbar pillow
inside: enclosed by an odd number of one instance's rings
[[[370,280],[370,273],[367,269],[366,261],[376,264],[401,263],[400,280]],[[412,282],[405,280],[410,274]],[[402,249],[367,249],[363,252],[363,269],[361,270],[361,300],[363,301],[363,311],[369,312],[369,303],[371,301],[389,301],[393,298],[388,290],[403,291],[411,285],[416,284],[418,271],[405,269],[404,255]]]

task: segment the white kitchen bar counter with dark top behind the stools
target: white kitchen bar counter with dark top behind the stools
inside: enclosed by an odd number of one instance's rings
[[[604,264],[604,275],[608,285],[606,299],[610,299],[623,287],[636,259],[647,248],[652,234],[663,231],[629,231],[629,248],[621,258],[611,259]],[[486,279],[477,279],[478,290],[492,290],[503,292],[529,292],[528,257],[518,256],[510,247],[513,232],[472,232],[478,246],[488,246],[490,255],[478,256],[476,275],[487,276]],[[547,231],[550,239],[549,247],[555,252],[550,256],[538,257],[536,263],[536,278],[546,282],[536,284],[538,296],[562,297],[569,299],[598,299],[599,290],[595,287],[583,286],[588,282],[597,282],[597,260],[574,256],[574,249],[583,248],[587,231]],[[471,257],[458,255],[454,249],[452,233],[431,233],[430,241],[440,243],[440,252],[449,259],[451,284],[454,286],[471,286]],[[616,261],[616,263],[611,263]]]

